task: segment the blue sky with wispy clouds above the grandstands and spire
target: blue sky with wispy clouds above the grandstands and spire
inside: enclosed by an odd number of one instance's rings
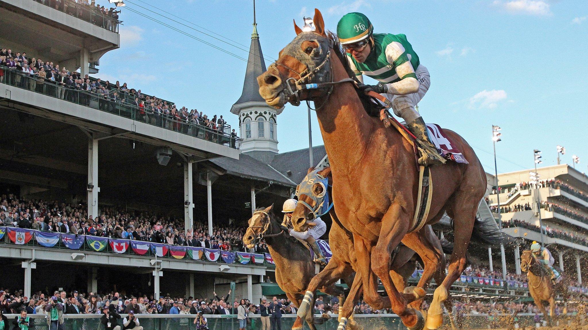
[[[245,45],[239,48],[249,47],[252,1],[143,1]],[[138,0],[127,5],[120,14],[121,48],[101,58],[95,76],[223,115],[236,127],[238,119],[229,110],[240,96],[246,62],[129,11],[146,12]],[[360,11],[375,32],[405,33],[432,80],[419,103],[420,113],[427,122],[462,134],[486,171],[494,172],[492,124],[503,133],[497,144],[499,172],[532,167],[533,149],[543,151],[543,165],[556,164],[557,144],[566,147],[564,163],[571,164],[576,154],[576,168],[587,171],[588,2],[258,0],[258,32],[267,65],[293,38],[292,19],[300,24],[316,5],[328,29],[335,30],[343,14]],[[247,57],[241,49],[166,22]],[[308,147],[306,132],[306,107],[286,106],[278,117],[280,152]],[[322,144],[316,117],[313,143]]]

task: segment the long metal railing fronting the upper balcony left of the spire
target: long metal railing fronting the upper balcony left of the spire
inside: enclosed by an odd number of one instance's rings
[[[0,80],[0,82],[6,85],[28,89],[35,93],[56,97],[78,105],[136,120],[137,122],[151,124],[162,127],[163,129],[173,130],[199,139],[222,144],[223,146],[232,147],[233,149],[239,149],[239,137],[232,136],[222,130],[213,130],[200,124],[178,120],[174,117],[142,109],[118,99],[115,100],[112,97],[99,95],[86,90],[72,89],[69,86],[57,85],[50,80],[37,79],[16,69],[0,67],[0,70],[4,71],[4,81]],[[225,128],[223,127],[223,129]]]

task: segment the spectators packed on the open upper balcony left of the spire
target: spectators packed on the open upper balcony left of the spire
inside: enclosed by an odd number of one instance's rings
[[[135,109],[139,117],[137,119],[144,122],[183,133],[188,133],[195,126],[193,132],[196,136],[202,134],[203,138],[216,142],[219,136],[227,136],[230,137],[231,147],[236,144],[237,134],[234,129],[230,130],[222,115],[208,117],[196,109],[185,106],[178,108],[171,102],[143,94],[141,89],[129,88],[126,83],[121,85],[116,81],[112,84],[109,80],[93,79],[88,75],[82,77],[80,73],[60,68],[49,60],[29,58],[26,53],[15,53],[11,49],[0,50],[0,82],[4,82],[5,70],[22,72],[23,76],[15,75],[17,81],[13,83],[25,89],[86,106],[90,106],[91,99],[96,99],[97,106],[102,110],[113,111],[117,105],[121,105],[124,106],[122,109]],[[202,130],[198,127],[202,127]]]

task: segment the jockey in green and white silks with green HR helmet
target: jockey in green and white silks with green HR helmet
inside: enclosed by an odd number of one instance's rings
[[[417,103],[425,96],[430,86],[429,70],[420,64],[406,35],[373,33],[369,19],[352,12],[343,16],[337,24],[339,42],[345,48],[349,65],[359,80],[359,88],[385,96],[392,102],[394,113],[402,117],[417,139],[436,147],[431,142],[423,118],[416,111]],[[366,75],[379,81],[377,85],[363,85]],[[419,159],[422,165],[441,164],[430,154]]]

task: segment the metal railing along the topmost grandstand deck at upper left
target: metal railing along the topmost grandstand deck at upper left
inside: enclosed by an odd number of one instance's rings
[[[118,33],[119,21],[117,18],[105,15],[96,10],[96,7],[90,5],[76,4],[72,0],[33,0],[45,6],[56,9],[65,14],[75,16],[83,21],[100,26],[108,31]]]

